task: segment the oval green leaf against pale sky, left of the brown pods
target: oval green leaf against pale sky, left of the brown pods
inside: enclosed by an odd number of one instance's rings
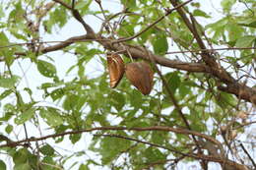
[[[51,63],[43,60],[37,61],[37,69],[39,73],[47,78],[52,78],[56,76],[56,68]]]

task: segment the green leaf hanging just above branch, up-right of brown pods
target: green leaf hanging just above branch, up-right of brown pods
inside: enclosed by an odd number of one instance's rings
[[[153,39],[154,52],[156,54],[165,54],[168,50],[168,42],[164,33],[157,33]]]

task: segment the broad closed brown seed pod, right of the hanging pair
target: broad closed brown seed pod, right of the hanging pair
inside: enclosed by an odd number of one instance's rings
[[[154,72],[148,63],[137,62],[127,64],[125,75],[131,84],[136,86],[144,95],[151,92]]]

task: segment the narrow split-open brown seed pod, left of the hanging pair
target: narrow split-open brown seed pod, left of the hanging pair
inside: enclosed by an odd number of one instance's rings
[[[124,63],[117,54],[107,55],[107,68],[109,71],[110,87],[114,88],[121,81],[124,74]]]

